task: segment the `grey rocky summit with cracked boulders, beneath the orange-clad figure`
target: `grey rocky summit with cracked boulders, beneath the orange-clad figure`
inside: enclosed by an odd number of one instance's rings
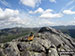
[[[1,43],[0,56],[75,56],[73,40],[61,31],[43,27],[35,34],[32,41],[22,37]]]

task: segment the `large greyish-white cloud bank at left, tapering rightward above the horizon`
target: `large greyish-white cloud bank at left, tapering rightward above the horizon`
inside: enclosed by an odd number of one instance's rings
[[[0,8],[0,28],[11,27],[42,27],[54,25],[54,22],[38,17],[31,17],[27,13],[21,13],[13,9]]]

